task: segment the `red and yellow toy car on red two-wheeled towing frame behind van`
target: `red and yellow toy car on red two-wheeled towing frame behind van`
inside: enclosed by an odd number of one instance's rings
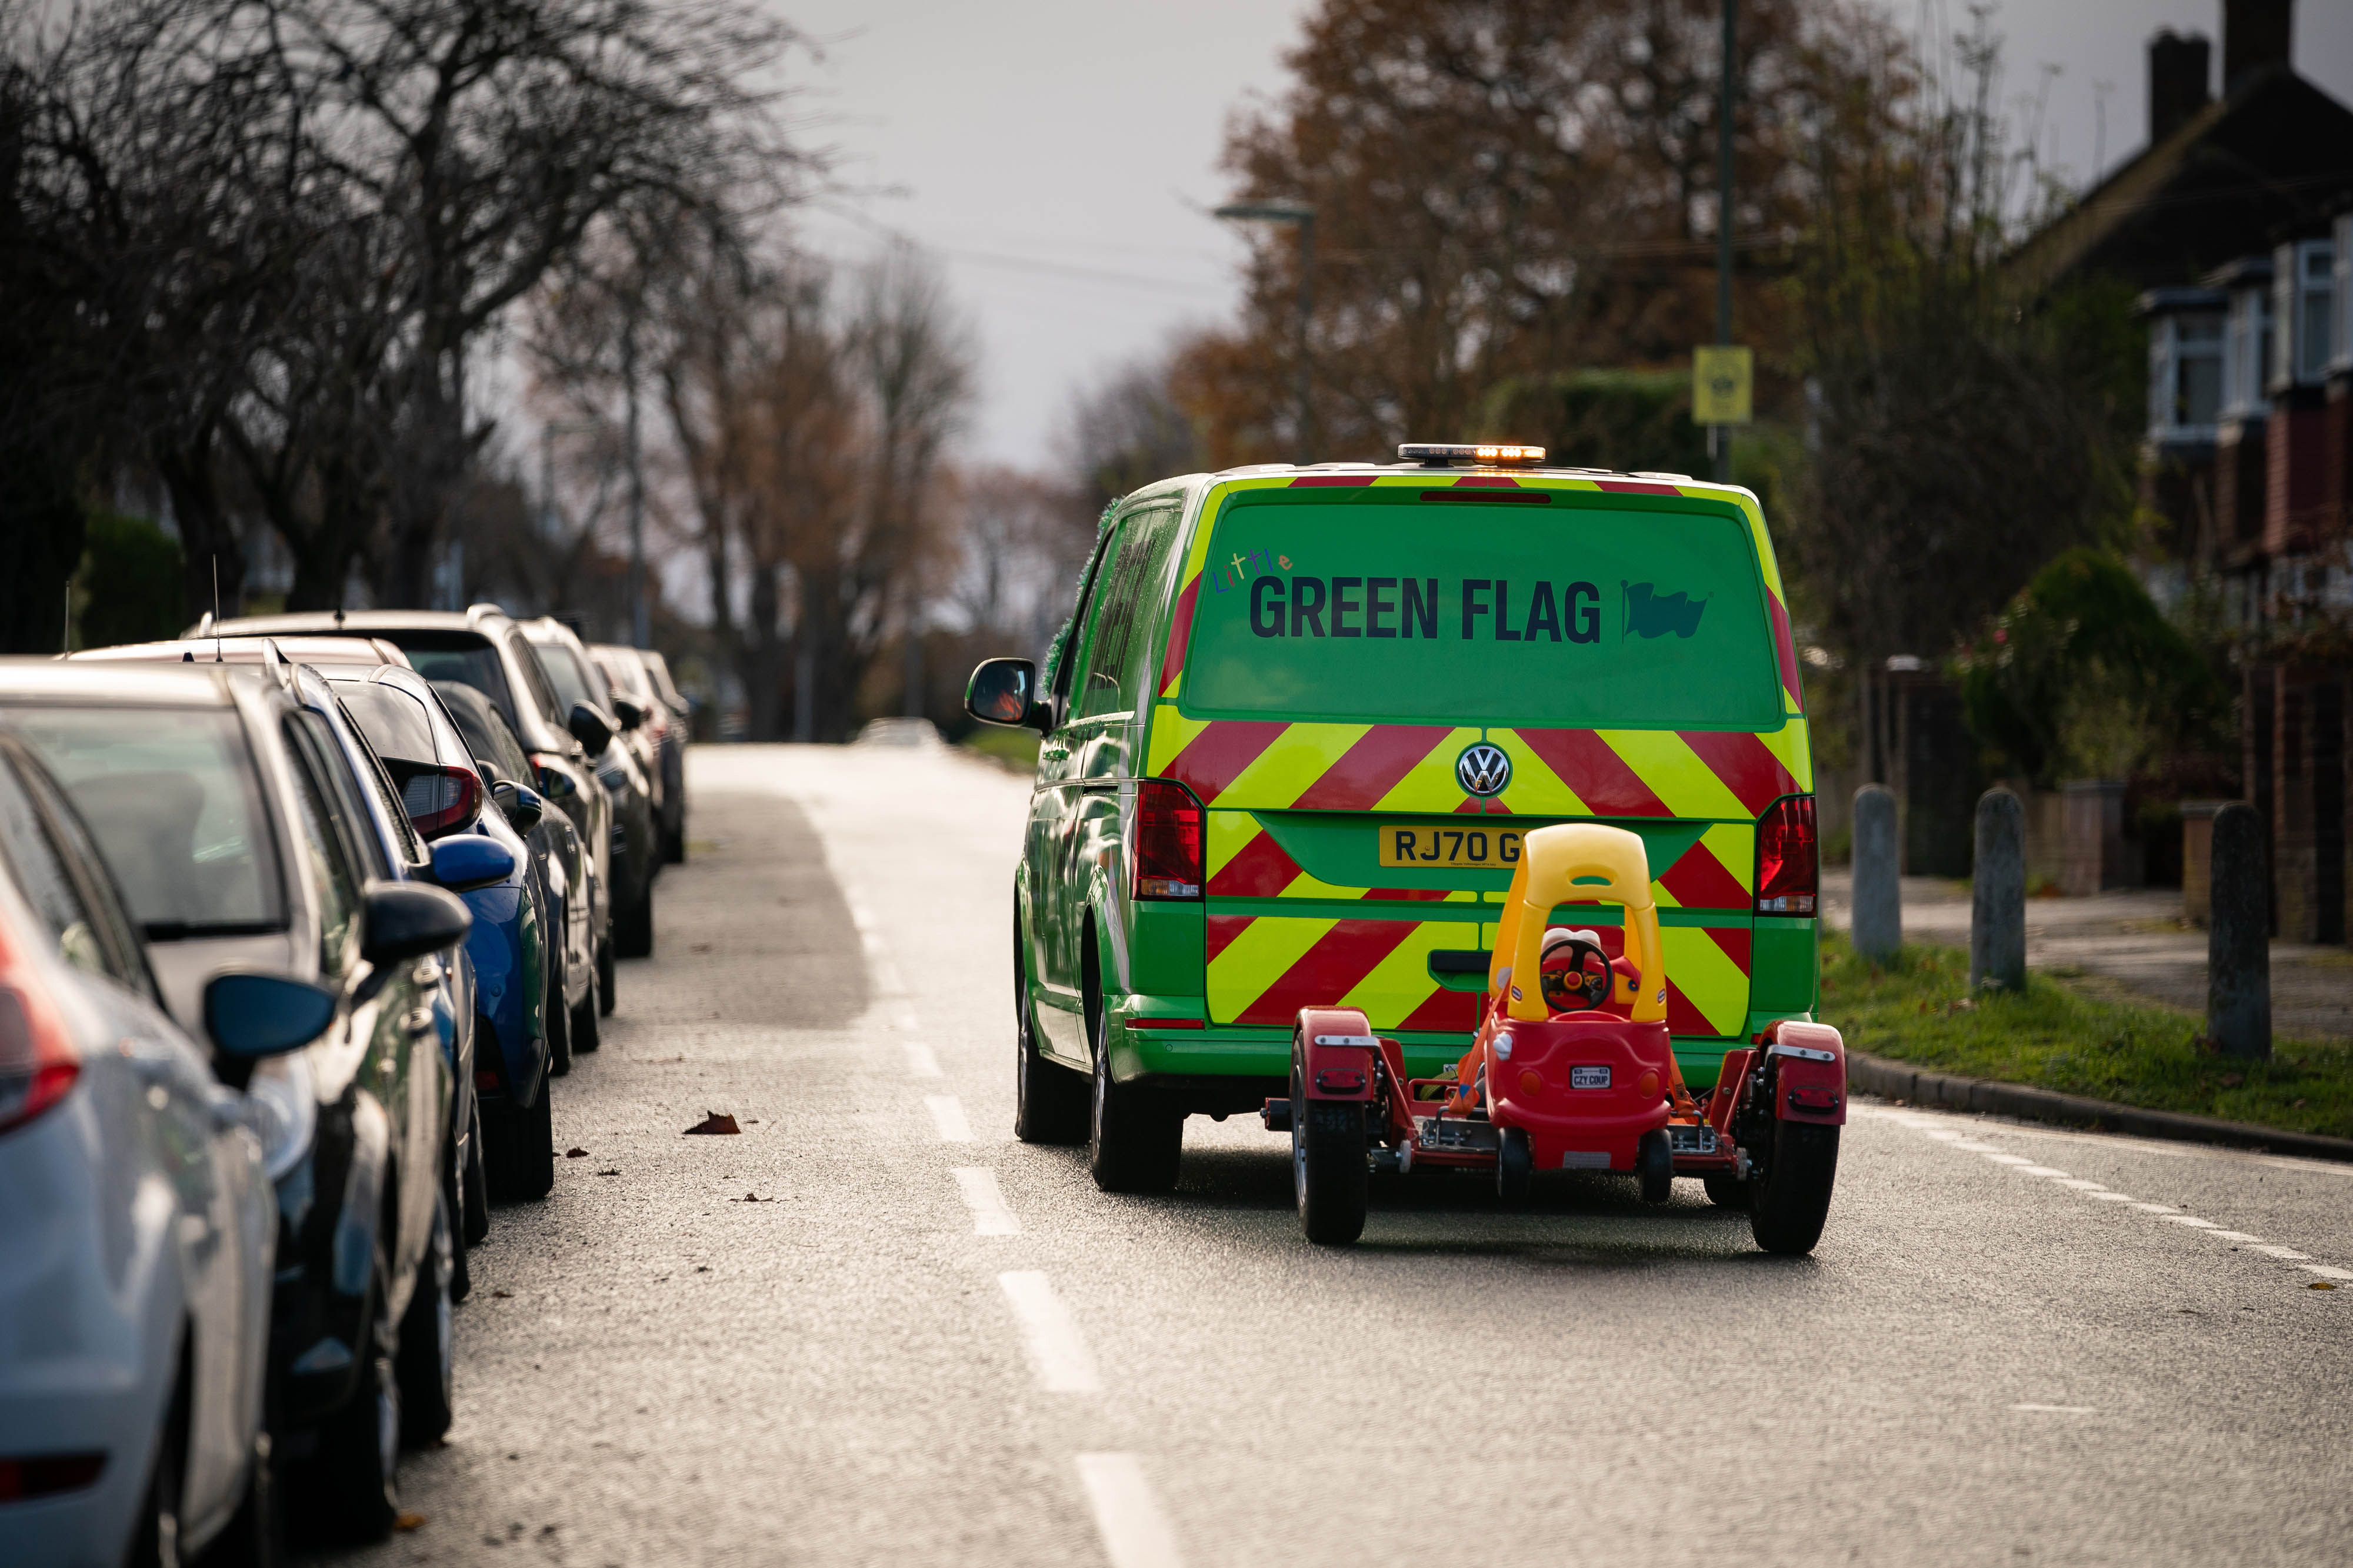
[[[1555,907],[1584,903],[1624,910],[1617,957],[1600,929],[1546,929]],[[1675,1175],[1699,1175],[1718,1204],[1748,1208],[1758,1246],[1812,1251],[1847,1119],[1838,1030],[1774,1023],[1694,1098],[1666,990],[1642,839],[1600,823],[1529,832],[1478,1032],[1447,1074],[1407,1077],[1398,1041],[1362,1011],[1299,1011],[1292,1093],[1264,1117],[1292,1135],[1308,1241],[1362,1234],[1369,1171],[1492,1168],[1504,1201],[1522,1201],[1537,1171],[1631,1171],[1649,1204],[1668,1199]]]

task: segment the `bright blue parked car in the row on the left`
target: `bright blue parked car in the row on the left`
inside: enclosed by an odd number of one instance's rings
[[[459,733],[433,684],[414,670],[355,668],[325,670],[344,708],[360,724],[367,743],[400,788],[409,823],[426,837],[480,832],[499,839],[515,858],[513,877],[466,893],[473,910],[473,936],[466,950],[475,966],[473,1088],[480,1119],[489,1135],[494,1182],[504,1194],[546,1197],[555,1187],[555,1124],[551,1119],[551,1079],[558,1048],[569,1065],[567,1039],[572,1018],[562,1006],[562,980],[555,964],[562,957],[560,933],[548,917],[541,870],[525,837],[508,820],[536,823],[541,799],[527,785],[506,785],[506,802],[482,785],[480,764]],[[480,701],[480,698],[478,698]],[[595,1004],[584,994],[593,1048]],[[480,1185],[468,1190],[468,1201]],[[475,1220],[468,1213],[468,1229]],[[482,1229],[489,1227],[487,1211]]]

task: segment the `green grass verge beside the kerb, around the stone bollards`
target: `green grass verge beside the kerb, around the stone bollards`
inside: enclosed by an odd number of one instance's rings
[[[1821,1018],[1847,1044],[1913,1067],[2061,1093],[2353,1138],[2353,1048],[2275,1039],[2273,1060],[2200,1046],[2200,1020],[2082,997],[2028,973],[2024,994],[1969,997],[1960,947],[1904,947],[1868,964],[1821,933]]]

